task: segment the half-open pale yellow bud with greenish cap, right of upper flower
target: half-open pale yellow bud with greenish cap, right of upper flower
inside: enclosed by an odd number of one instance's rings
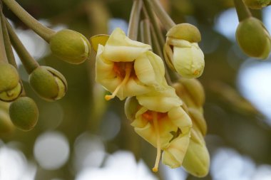
[[[165,61],[184,78],[198,78],[205,66],[204,54],[198,46],[200,31],[189,23],[181,23],[167,33]]]

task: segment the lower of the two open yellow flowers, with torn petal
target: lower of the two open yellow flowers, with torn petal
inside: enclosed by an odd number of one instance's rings
[[[182,103],[169,86],[126,100],[126,116],[133,121],[136,133],[157,148],[153,171],[158,171],[161,149],[163,164],[175,168],[183,162],[192,122],[180,106]]]

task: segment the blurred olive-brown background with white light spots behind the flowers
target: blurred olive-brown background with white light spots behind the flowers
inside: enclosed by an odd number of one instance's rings
[[[71,28],[87,38],[127,31],[133,1],[18,0],[31,15],[58,31]],[[232,0],[163,0],[175,23],[188,22],[202,33],[205,71],[199,78],[206,93],[208,123],[205,140],[211,156],[204,179],[271,179],[271,58],[244,55],[235,41],[237,14]],[[124,102],[106,102],[95,83],[95,53],[81,65],[69,65],[51,55],[48,45],[4,6],[16,33],[41,65],[59,70],[68,81],[62,100],[46,102],[29,87],[19,63],[27,95],[36,101],[40,117],[30,132],[14,129],[1,135],[1,180],[185,180],[197,179],[182,168],[160,164],[151,172],[156,149],[140,138],[123,112]],[[271,31],[271,7],[252,11]]]

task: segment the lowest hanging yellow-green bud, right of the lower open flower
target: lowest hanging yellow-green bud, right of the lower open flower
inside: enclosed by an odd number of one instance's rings
[[[193,138],[192,129],[188,150],[183,159],[183,167],[193,176],[204,177],[208,174],[210,167],[210,156],[204,141],[196,141]],[[203,139],[203,137],[201,137]]]

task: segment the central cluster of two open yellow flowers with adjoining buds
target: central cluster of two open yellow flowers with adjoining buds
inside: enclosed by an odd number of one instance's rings
[[[173,51],[177,52],[171,53],[178,54],[178,51],[183,51],[182,48],[188,48],[183,53],[190,54],[190,57],[183,56],[175,61],[192,63],[190,68],[187,66],[186,69],[183,68],[185,70],[180,71],[194,78],[198,77],[198,73],[202,73],[203,53],[198,48],[198,44],[193,43],[195,42],[193,38],[182,37],[177,31],[179,27],[184,26],[195,27],[188,24],[176,25],[168,34],[185,40],[174,40],[170,37],[168,43],[177,42],[176,46],[181,43],[188,44],[186,47],[175,47]],[[121,28],[116,28],[109,37],[94,36],[91,38],[91,43],[96,47],[94,50],[97,52],[96,82],[112,93],[106,95],[106,100],[111,100],[113,97],[126,99],[124,110],[135,132],[157,148],[153,171],[158,171],[158,164],[162,157],[163,164],[171,168],[183,165],[195,176],[208,174],[210,158],[203,138],[206,134],[206,123],[202,107],[204,91],[200,83],[195,79],[191,79],[190,82],[190,79],[181,78],[180,82],[173,86],[168,85],[162,58],[150,51],[150,45],[128,38]],[[171,46],[168,43],[165,47]],[[178,55],[175,56],[178,58]],[[203,64],[198,65],[199,59],[203,60]],[[176,67],[176,63],[171,61],[170,64],[175,69],[182,66],[178,66],[177,63]],[[189,83],[181,83],[182,80],[188,80]],[[183,89],[178,87],[180,85],[188,88],[185,94]]]

